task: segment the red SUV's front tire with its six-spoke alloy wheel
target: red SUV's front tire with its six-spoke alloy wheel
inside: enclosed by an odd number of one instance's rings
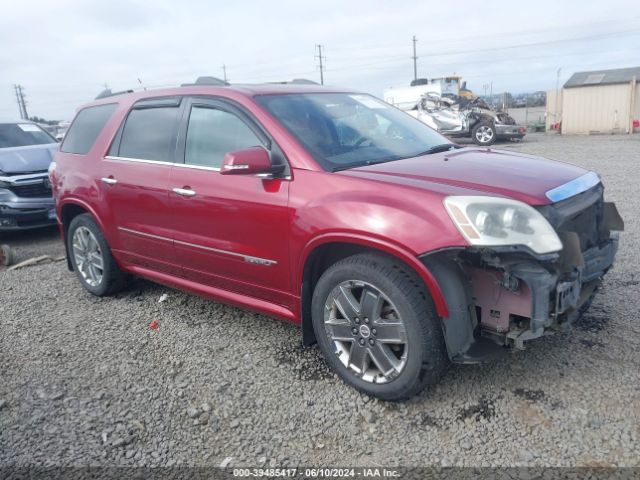
[[[313,328],[329,365],[349,385],[403,400],[436,383],[447,366],[433,302],[416,273],[382,254],[332,265],[312,299]]]

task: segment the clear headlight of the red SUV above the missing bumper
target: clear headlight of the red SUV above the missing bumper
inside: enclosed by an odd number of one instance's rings
[[[553,227],[526,203],[498,197],[447,197],[444,206],[472,245],[524,245],[535,253],[562,250]]]

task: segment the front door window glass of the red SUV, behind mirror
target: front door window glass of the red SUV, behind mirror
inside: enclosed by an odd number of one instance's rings
[[[219,168],[226,153],[262,145],[255,133],[232,113],[193,107],[189,116],[185,162]]]

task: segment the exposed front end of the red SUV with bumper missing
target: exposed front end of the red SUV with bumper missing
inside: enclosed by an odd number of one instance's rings
[[[613,265],[624,224],[602,184],[537,210],[561,239],[560,252],[469,247],[422,257],[449,307],[442,326],[453,362],[486,361],[570,326]]]

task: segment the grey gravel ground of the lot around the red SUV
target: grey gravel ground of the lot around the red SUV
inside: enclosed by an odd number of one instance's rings
[[[571,332],[385,403],[293,325],[142,280],[94,298],[64,262],[2,271],[0,466],[640,466],[640,136],[502,147],[599,171],[626,220]],[[55,230],[2,243],[22,259],[63,251]]]

